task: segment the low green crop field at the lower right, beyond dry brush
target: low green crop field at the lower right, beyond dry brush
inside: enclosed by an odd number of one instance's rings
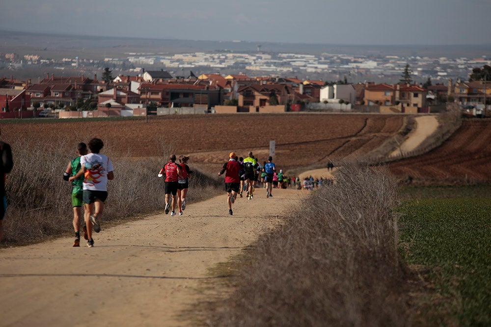
[[[426,285],[423,325],[491,325],[490,194],[487,185],[401,190],[412,200],[398,209],[399,248]]]

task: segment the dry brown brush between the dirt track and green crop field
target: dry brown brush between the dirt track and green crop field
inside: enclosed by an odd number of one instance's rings
[[[343,167],[247,254],[218,326],[405,326],[396,183]]]

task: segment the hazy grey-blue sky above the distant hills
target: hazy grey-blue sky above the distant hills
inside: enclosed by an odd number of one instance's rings
[[[210,41],[491,44],[491,0],[2,0],[0,29]]]

